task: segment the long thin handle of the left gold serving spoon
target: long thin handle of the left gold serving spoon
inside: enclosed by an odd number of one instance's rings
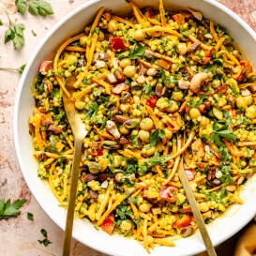
[[[79,177],[82,145],[83,145],[83,138],[75,138],[74,155],[73,155],[72,169],[71,169],[71,181],[70,181],[69,196],[68,196],[68,214],[66,219],[66,229],[65,229],[65,235],[64,235],[64,245],[62,250],[62,256],[69,256],[70,254],[70,245],[71,245],[71,239],[72,239],[74,209],[75,209],[75,203],[76,203],[77,183],[78,183],[78,177]]]

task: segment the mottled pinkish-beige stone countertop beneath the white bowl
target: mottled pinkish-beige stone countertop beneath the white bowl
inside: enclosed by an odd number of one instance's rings
[[[48,2],[53,7],[54,15],[42,18],[32,16],[28,12],[21,16],[14,5],[15,0],[0,1],[0,21],[3,23],[0,26],[0,67],[19,68],[25,64],[30,53],[35,50],[45,33],[68,12],[81,6],[86,0],[48,0]],[[256,31],[256,0],[218,0],[218,2],[231,8]],[[23,31],[25,44],[20,51],[15,51],[11,42],[4,44],[5,32],[8,27],[6,11],[13,21],[25,25]],[[33,35],[32,30],[37,36]],[[18,72],[0,70],[0,198],[6,200],[10,198],[11,201],[19,198],[27,200],[18,217],[0,220],[0,255],[58,256],[61,255],[64,233],[44,213],[34,199],[25,184],[15,156],[12,113],[20,77]],[[33,213],[34,221],[27,219],[27,212]],[[38,243],[38,240],[43,239],[43,235],[40,233],[41,229],[47,231],[48,238],[53,244],[44,247]],[[239,233],[224,243],[222,248],[233,248],[233,242],[237,237],[239,237]],[[221,251],[221,247],[218,249]],[[71,255],[104,256],[105,254],[73,240]],[[225,253],[225,256],[229,255]]]

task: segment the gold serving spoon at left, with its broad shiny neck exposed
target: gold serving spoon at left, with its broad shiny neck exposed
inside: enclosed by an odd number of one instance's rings
[[[70,244],[72,239],[74,209],[77,196],[77,183],[79,177],[81,151],[83,139],[88,132],[84,127],[80,113],[78,113],[76,110],[75,102],[71,100],[72,94],[73,92],[75,92],[75,88],[73,86],[75,82],[76,78],[74,76],[68,77],[65,83],[65,87],[67,88],[70,96],[68,97],[66,94],[63,95],[65,111],[68,115],[68,122],[74,136],[74,153],[71,169],[70,188],[68,196],[68,214],[66,218],[66,228],[62,256],[69,256],[70,254]]]

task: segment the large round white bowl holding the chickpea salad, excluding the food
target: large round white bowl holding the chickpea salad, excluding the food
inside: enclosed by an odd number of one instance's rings
[[[154,7],[158,9],[158,0],[134,1],[140,8]],[[247,55],[252,64],[256,63],[256,36],[253,30],[235,15],[230,9],[223,7],[214,0],[166,0],[167,9],[195,8],[203,12],[204,17],[213,20],[214,23],[224,25],[230,35],[239,44],[243,53]],[[65,227],[66,210],[58,206],[49,186],[38,178],[38,163],[33,158],[32,139],[28,133],[28,118],[32,114],[34,98],[30,85],[38,73],[39,64],[53,55],[56,48],[69,36],[78,34],[87,23],[93,21],[98,8],[105,7],[112,9],[113,13],[128,13],[130,8],[125,0],[94,0],[83,4],[68,14],[38,45],[35,53],[32,54],[19,84],[17,98],[14,108],[14,142],[16,154],[23,172],[25,181],[44,211],[62,229]],[[241,193],[244,204],[235,204],[225,214],[207,225],[213,244],[217,246],[242,229],[248,221],[256,214],[256,191],[253,183],[256,176],[252,176],[245,189]],[[118,235],[108,235],[97,231],[88,220],[75,219],[73,237],[84,245],[95,248],[111,255],[118,256],[147,256],[145,249],[137,241],[127,239]],[[152,256],[175,255],[188,256],[200,253],[205,250],[203,240],[199,232],[186,239],[175,242],[174,248],[155,248]]]

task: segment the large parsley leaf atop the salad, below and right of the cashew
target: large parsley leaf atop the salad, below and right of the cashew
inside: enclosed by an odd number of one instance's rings
[[[233,134],[233,131],[228,129],[228,125],[223,125],[222,127],[218,126],[218,121],[214,121],[213,124],[213,133],[211,134],[210,140],[212,143],[216,143],[218,146],[221,146],[221,139],[235,140],[237,137]]]

